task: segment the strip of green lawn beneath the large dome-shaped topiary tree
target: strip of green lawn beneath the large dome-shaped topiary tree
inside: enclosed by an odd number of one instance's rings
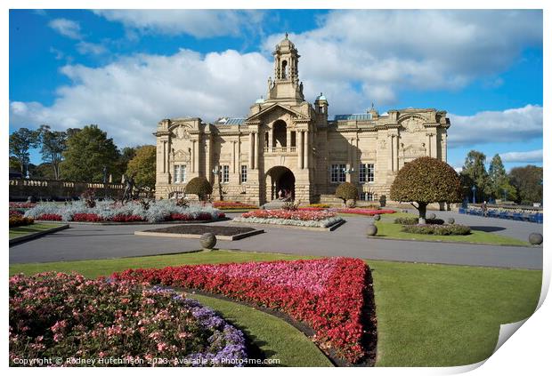
[[[402,215],[397,215],[402,214]],[[491,232],[472,230],[470,235],[426,235],[426,234],[410,234],[408,232],[402,232],[402,225],[395,224],[394,218],[413,216],[412,214],[406,215],[405,213],[384,214],[382,220],[376,221],[377,237],[388,237],[394,239],[408,239],[408,240],[426,240],[426,241],[441,241],[441,242],[461,242],[461,243],[474,243],[474,244],[496,244],[496,245],[531,245],[529,242],[515,239],[513,237],[501,236],[493,234]]]

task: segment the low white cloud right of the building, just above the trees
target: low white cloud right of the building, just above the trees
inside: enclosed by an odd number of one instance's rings
[[[473,116],[449,114],[449,146],[514,142],[542,137],[542,107],[527,105],[504,111],[483,111]]]

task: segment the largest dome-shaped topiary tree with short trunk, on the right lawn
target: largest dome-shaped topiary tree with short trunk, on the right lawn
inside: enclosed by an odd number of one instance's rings
[[[418,223],[423,224],[426,223],[427,204],[461,202],[462,185],[459,174],[449,164],[422,156],[402,167],[391,185],[390,198],[410,202],[418,209]]]

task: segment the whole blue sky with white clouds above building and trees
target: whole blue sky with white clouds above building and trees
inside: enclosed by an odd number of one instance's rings
[[[122,148],[162,118],[246,116],[288,32],[330,115],[444,109],[451,165],[542,164],[539,11],[11,10],[9,29],[10,132],[99,124]]]

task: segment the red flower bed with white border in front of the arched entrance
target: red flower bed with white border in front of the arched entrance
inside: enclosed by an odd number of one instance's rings
[[[281,209],[244,212],[240,217],[234,218],[236,222],[309,228],[329,228],[341,220],[335,213],[328,211],[290,211]]]

